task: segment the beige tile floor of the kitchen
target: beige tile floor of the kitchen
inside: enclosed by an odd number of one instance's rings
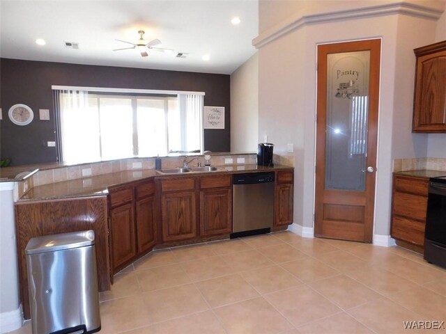
[[[446,333],[403,327],[446,321],[446,270],[399,247],[291,232],[154,251],[100,300],[104,334]],[[12,333],[30,334],[29,321]]]

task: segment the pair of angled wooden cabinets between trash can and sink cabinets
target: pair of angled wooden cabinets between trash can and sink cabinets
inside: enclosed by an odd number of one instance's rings
[[[109,189],[112,275],[155,245],[153,180]]]

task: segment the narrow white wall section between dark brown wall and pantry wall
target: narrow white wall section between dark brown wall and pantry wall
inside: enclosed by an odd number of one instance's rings
[[[256,152],[259,134],[259,55],[231,74],[231,152]]]

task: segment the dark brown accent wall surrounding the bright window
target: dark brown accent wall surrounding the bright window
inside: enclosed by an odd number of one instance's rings
[[[87,86],[205,92],[205,106],[225,107],[225,129],[204,130],[204,150],[229,152],[231,148],[230,77],[206,74],[146,70],[130,67],[76,65],[21,61],[0,58],[0,157],[12,159],[11,165],[56,161],[54,107],[51,86]],[[14,104],[30,106],[34,120],[24,127],[10,122],[8,110]],[[51,120],[39,120],[39,109],[49,109]],[[82,129],[79,129],[82,136]]]

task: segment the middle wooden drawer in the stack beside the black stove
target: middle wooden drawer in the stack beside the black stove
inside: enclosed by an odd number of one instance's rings
[[[427,198],[410,193],[393,194],[393,213],[397,216],[426,221]]]

